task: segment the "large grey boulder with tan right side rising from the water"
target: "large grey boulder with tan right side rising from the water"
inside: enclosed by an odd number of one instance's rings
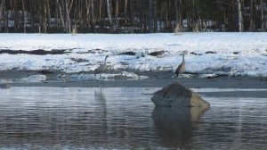
[[[206,102],[198,93],[193,92],[179,83],[171,84],[158,90],[151,101],[156,106],[170,107],[203,107],[209,108],[210,104]]]

